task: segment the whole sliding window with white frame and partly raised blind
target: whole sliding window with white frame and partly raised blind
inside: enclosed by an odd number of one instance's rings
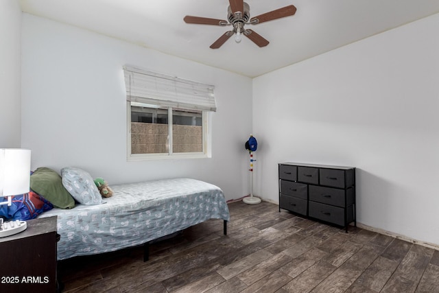
[[[128,159],[207,157],[213,86],[124,67]]]

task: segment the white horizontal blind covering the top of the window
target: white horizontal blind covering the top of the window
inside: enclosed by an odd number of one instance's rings
[[[126,99],[181,110],[216,111],[214,86],[172,76],[123,67]]]

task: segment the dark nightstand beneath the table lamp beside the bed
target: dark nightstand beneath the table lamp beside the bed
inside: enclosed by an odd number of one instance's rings
[[[56,216],[0,238],[0,292],[56,292]]]

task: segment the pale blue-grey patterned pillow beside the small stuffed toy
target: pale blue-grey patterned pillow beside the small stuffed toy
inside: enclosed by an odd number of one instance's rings
[[[102,196],[93,178],[86,171],[65,167],[61,169],[62,185],[80,204],[102,204]]]

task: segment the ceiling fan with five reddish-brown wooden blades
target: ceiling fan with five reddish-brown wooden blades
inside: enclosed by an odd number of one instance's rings
[[[244,2],[244,0],[229,0],[230,6],[228,6],[227,19],[224,21],[222,19],[209,19],[200,16],[185,16],[185,23],[195,23],[199,25],[232,25],[233,30],[225,32],[220,36],[215,42],[210,46],[211,49],[218,49],[226,40],[236,34],[235,40],[237,43],[241,41],[241,35],[250,38],[253,43],[259,47],[265,47],[268,45],[268,40],[265,40],[262,36],[254,32],[253,30],[244,29],[244,25],[256,25],[258,23],[264,23],[265,21],[272,21],[274,19],[281,19],[285,16],[291,16],[296,13],[296,7],[294,5],[288,5],[283,8],[279,8],[258,16],[254,16],[250,19],[250,6]]]

